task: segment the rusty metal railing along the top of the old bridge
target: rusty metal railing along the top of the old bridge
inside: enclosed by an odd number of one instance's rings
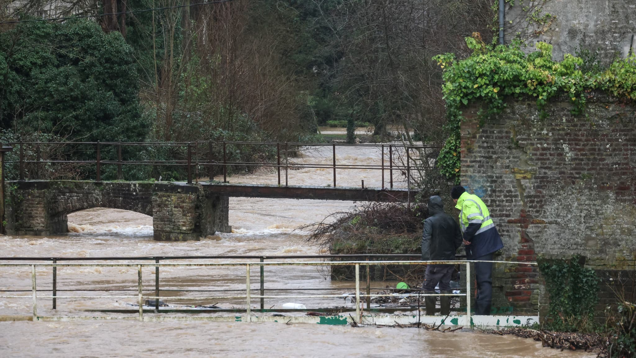
[[[223,182],[228,182],[228,168],[275,168],[277,171],[277,183],[282,185],[284,172],[284,185],[289,185],[289,170],[317,168],[331,169],[333,171],[333,187],[337,186],[336,171],[343,169],[372,169],[381,172],[382,189],[385,189],[385,173],[389,174],[389,187],[394,186],[394,172],[397,171],[404,177],[407,186],[411,183],[411,170],[418,168],[434,168],[435,152],[439,150],[436,145],[401,145],[392,143],[380,144],[344,144],[344,143],[277,143],[277,142],[247,142],[247,141],[190,141],[190,142],[121,142],[121,141],[97,141],[97,142],[13,142],[8,143],[17,147],[18,159],[5,161],[6,164],[17,164],[18,180],[43,179],[43,169],[46,164],[82,164],[95,166],[95,181],[102,180],[102,166],[116,166],[117,180],[124,180],[123,166],[176,166],[186,170],[186,180],[192,183],[193,176],[198,178],[198,168],[207,168],[210,178],[215,173],[223,174]],[[261,152],[268,153],[260,160],[240,161],[231,159],[229,155],[232,148],[239,146],[259,146]],[[57,148],[53,155],[47,152],[47,148]],[[176,149],[173,159],[125,159],[123,148],[143,147],[146,149],[169,147]],[[231,147],[231,148],[230,148]],[[290,162],[293,154],[300,147],[331,148],[331,162]],[[377,164],[344,164],[336,160],[336,148],[338,147],[364,147],[378,148],[380,158]],[[104,158],[106,148],[111,158]],[[65,152],[65,149],[68,151]],[[275,152],[275,154],[274,154]],[[81,155],[78,155],[81,153]],[[92,154],[91,154],[92,153]],[[291,155],[290,155],[291,154]],[[431,154],[424,155],[422,154]],[[116,158],[114,157],[116,155]],[[83,157],[83,159],[73,159]],[[275,157],[275,161],[273,158]],[[388,157],[388,159],[387,159]],[[54,159],[53,159],[54,158]],[[27,173],[26,166],[32,166],[31,173]],[[220,168],[220,169],[218,169]],[[364,181],[362,181],[364,187]]]

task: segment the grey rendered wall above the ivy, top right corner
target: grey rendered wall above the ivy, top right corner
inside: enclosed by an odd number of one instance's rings
[[[520,18],[520,10],[521,6],[508,5],[506,18]],[[632,35],[636,34],[636,1],[633,0],[548,0],[543,13],[555,15],[556,20],[547,32],[532,39],[529,45],[534,48],[536,41],[551,43],[554,58],[559,61],[563,54],[574,54],[579,47],[598,50],[605,64],[616,55],[625,58],[632,45]],[[518,27],[516,23],[506,23],[506,43]]]

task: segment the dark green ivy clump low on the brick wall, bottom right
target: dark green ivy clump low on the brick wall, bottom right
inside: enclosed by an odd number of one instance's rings
[[[544,326],[552,331],[590,331],[598,302],[598,277],[581,257],[539,259],[539,271],[550,295]]]

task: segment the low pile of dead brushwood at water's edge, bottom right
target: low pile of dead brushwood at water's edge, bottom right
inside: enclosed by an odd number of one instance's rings
[[[550,332],[543,329],[527,329],[522,327],[486,330],[486,333],[504,336],[513,334],[521,338],[532,338],[541,341],[543,347],[556,348],[560,350],[584,350],[585,352],[601,349],[604,346],[605,338],[598,333],[567,333]]]

